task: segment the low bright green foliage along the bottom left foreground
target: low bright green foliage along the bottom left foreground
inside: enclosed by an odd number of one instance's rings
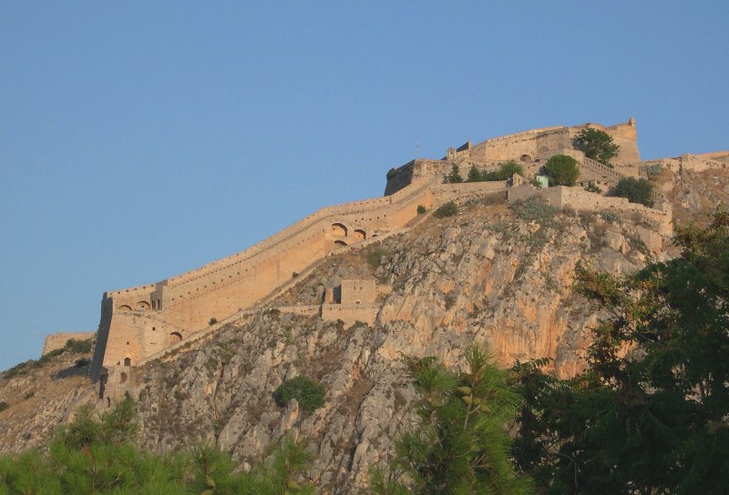
[[[137,431],[130,399],[100,416],[81,408],[56,432],[46,452],[0,457],[0,493],[313,493],[314,487],[301,480],[311,455],[293,439],[283,439],[269,460],[241,472],[229,454],[215,447],[167,454],[139,450],[134,443]]]

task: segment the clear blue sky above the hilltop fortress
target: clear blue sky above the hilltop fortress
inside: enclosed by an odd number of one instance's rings
[[[416,154],[630,116],[646,158],[729,148],[727,25],[725,1],[0,1],[0,369]]]

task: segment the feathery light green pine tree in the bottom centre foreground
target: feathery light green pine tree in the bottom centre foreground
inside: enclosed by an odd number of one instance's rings
[[[373,470],[378,494],[450,495],[532,492],[515,472],[504,428],[521,399],[508,388],[508,372],[477,347],[465,353],[466,369],[447,369],[435,358],[407,359],[421,399],[419,424],[395,444],[391,470]]]

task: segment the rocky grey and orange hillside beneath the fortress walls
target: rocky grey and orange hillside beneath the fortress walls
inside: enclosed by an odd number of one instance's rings
[[[663,167],[652,181],[682,221],[702,221],[707,207],[729,202],[725,170]],[[650,257],[672,256],[671,248],[648,251],[640,216],[556,210],[539,201],[509,207],[502,193],[460,203],[454,217],[428,212],[399,234],[330,254],[266,308],[136,369],[131,396],[142,444],[165,451],[216,442],[250,463],[293,430],[317,454],[310,474],[321,492],[353,493],[413,419],[403,355],[453,362],[476,341],[506,366],[549,357],[557,375],[570,376],[584,366],[590,328],[601,317],[572,292],[576,264],[630,273]],[[372,325],[286,309],[320,304],[327,289],[350,278],[375,278],[383,288]],[[81,403],[107,407],[84,369],[75,368],[77,358],[62,355],[0,381],[0,399],[9,404],[0,412],[0,450],[40,445]],[[323,408],[276,405],[273,390],[299,374],[324,384]],[[29,391],[35,395],[23,399]]]

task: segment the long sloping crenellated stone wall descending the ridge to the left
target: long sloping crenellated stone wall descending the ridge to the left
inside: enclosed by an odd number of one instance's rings
[[[337,248],[403,227],[418,205],[432,207],[430,184],[416,181],[387,197],[323,207],[261,243],[197,270],[135,288],[110,291],[101,304],[92,378],[128,367],[251,308]]]

